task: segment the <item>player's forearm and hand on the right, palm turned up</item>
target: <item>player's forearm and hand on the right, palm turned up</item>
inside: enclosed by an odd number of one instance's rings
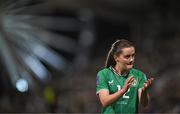
[[[150,97],[147,90],[152,85],[152,81],[153,78],[148,79],[144,86],[138,90],[139,102],[144,107],[149,104]]]

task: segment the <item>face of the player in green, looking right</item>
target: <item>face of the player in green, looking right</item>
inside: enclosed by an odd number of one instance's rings
[[[129,70],[133,67],[135,58],[135,48],[123,48],[122,53],[115,57],[116,64],[123,70]]]

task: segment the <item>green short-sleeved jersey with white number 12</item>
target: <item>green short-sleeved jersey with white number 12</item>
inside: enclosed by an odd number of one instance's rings
[[[132,68],[125,76],[118,75],[112,67],[104,68],[97,74],[96,94],[106,89],[109,94],[113,94],[124,86],[128,77],[133,76],[135,81],[132,83],[128,91],[111,105],[103,107],[102,113],[136,113],[138,107],[138,89],[142,88],[147,81],[146,75]]]

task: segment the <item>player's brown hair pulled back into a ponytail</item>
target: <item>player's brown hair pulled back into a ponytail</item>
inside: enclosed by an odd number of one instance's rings
[[[126,39],[116,40],[112,44],[111,49],[108,52],[105,67],[106,68],[110,66],[114,67],[116,65],[116,61],[114,60],[114,55],[118,56],[119,54],[122,53],[122,49],[127,47],[134,47],[134,45],[132,42]]]

